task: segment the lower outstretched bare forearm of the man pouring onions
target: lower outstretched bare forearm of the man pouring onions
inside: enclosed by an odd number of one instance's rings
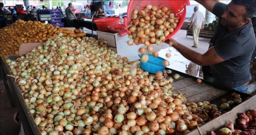
[[[176,50],[178,50],[185,58],[188,60],[194,62],[195,64],[198,65],[203,65],[202,63],[202,54],[195,52],[185,46],[183,46],[180,43],[176,43],[172,45]]]

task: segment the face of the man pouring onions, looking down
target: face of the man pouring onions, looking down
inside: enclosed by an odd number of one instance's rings
[[[242,21],[244,21],[244,14],[246,14],[246,8],[244,6],[235,5],[233,2],[230,2],[221,15],[221,24],[227,27],[239,27]]]

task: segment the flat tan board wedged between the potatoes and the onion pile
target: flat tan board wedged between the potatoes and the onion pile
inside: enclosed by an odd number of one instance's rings
[[[33,43],[21,43],[19,44],[19,55],[26,54],[31,51],[34,47],[43,45],[43,42],[33,42]]]

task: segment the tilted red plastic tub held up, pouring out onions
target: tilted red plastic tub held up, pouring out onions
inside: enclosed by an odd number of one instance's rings
[[[175,35],[178,30],[183,25],[186,17],[187,5],[190,5],[189,0],[130,0],[128,9],[127,9],[127,17],[124,18],[125,27],[131,22],[131,13],[134,9],[138,11],[145,9],[147,5],[156,6],[157,8],[168,7],[173,11],[175,17],[180,18],[180,22],[175,28],[175,30],[168,35],[165,40]],[[129,29],[126,29],[126,32],[129,34]]]

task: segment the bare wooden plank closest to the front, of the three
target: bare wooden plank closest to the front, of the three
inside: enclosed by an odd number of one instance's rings
[[[195,103],[199,101],[213,101],[216,98],[219,98],[227,93],[227,91],[223,91],[221,89],[211,88],[197,95],[189,96],[187,98],[187,101],[192,100]]]

